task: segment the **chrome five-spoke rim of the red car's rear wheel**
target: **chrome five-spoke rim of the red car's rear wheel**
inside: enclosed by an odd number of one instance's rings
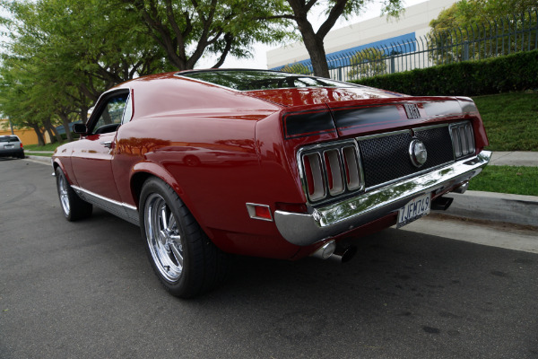
[[[145,234],[153,262],[168,282],[183,272],[183,241],[178,221],[161,195],[152,193],[143,209]]]

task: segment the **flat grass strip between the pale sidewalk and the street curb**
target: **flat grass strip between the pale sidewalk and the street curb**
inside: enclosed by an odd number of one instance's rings
[[[471,180],[469,189],[538,196],[538,167],[486,166]]]

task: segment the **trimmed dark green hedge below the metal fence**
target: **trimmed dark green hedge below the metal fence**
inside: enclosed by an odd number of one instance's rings
[[[351,81],[415,96],[538,90],[538,50]]]

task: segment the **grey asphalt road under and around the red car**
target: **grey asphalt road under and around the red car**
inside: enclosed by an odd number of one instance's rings
[[[185,301],[137,227],[65,221],[50,173],[0,159],[0,358],[538,358],[538,254],[388,229]]]

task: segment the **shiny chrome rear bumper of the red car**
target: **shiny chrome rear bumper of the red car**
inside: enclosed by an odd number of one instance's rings
[[[308,246],[389,215],[413,197],[438,193],[472,179],[490,162],[491,153],[477,156],[435,171],[377,188],[329,206],[316,208],[311,215],[275,211],[274,222],[286,241]]]

